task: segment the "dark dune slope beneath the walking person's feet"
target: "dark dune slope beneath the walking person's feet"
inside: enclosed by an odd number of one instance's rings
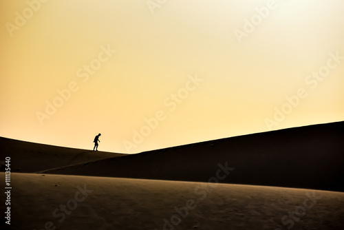
[[[125,156],[105,151],[72,149],[0,137],[0,160],[11,158],[11,170],[35,172],[104,158]],[[0,167],[4,171],[4,167]]]

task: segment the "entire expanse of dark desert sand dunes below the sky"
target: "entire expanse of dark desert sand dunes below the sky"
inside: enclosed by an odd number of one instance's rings
[[[1,229],[343,229],[343,139],[344,122],[129,155],[0,138]]]

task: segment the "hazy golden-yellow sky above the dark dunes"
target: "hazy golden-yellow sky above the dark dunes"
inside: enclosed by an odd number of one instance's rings
[[[0,4],[0,136],[134,154],[344,121],[344,1]]]

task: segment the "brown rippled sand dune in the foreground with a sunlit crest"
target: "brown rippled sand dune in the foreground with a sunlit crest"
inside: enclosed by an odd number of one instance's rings
[[[12,182],[8,229],[344,229],[344,194],[333,191],[41,174]]]

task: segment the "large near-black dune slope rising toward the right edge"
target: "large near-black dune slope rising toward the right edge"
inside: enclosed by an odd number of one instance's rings
[[[281,129],[107,158],[47,174],[219,182],[344,191],[344,122]]]

